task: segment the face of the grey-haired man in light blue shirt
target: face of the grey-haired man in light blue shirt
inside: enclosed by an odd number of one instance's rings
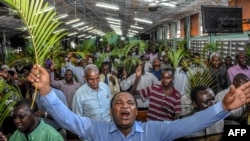
[[[98,85],[100,82],[100,74],[97,71],[87,71],[85,74],[85,79],[88,86],[94,90],[98,89]]]

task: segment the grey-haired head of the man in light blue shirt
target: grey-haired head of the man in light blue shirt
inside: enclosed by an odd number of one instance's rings
[[[94,64],[88,64],[84,69],[84,73],[84,77],[88,86],[94,90],[97,90],[100,82],[100,72],[98,67]]]

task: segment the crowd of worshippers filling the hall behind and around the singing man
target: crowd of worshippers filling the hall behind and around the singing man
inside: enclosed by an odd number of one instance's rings
[[[187,58],[174,68],[167,53],[148,50],[138,56],[142,61],[132,72],[119,71],[112,58],[100,67],[88,57],[73,63],[72,53],[60,74],[53,63],[32,64],[20,71],[2,65],[1,78],[20,89],[23,100],[10,116],[15,129],[7,132],[2,125],[0,139],[66,141],[67,132],[72,132],[82,141],[219,141],[224,124],[247,124],[242,122],[250,102],[245,52],[239,52],[234,63],[230,56],[211,53],[204,64],[213,83],[189,91],[188,71],[195,67],[182,64]],[[36,99],[33,107],[32,99]],[[140,110],[147,110],[145,121],[136,120]]]

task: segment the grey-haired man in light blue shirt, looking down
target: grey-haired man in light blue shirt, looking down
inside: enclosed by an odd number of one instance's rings
[[[84,72],[86,84],[76,91],[72,111],[93,120],[110,122],[109,103],[112,95],[108,85],[100,82],[99,69],[96,65],[87,65]]]

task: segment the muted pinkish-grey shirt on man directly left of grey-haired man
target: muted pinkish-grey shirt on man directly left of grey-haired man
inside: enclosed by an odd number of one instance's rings
[[[81,84],[75,81],[73,81],[72,84],[66,83],[65,80],[56,81],[54,79],[54,72],[50,73],[50,80],[51,80],[50,84],[52,87],[55,87],[64,93],[68,106],[70,109],[72,109],[73,97],[75,95],[76,90],[78,90],[81,87]]]

